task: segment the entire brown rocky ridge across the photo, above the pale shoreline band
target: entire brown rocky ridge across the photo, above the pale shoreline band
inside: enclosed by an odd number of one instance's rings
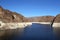
[[[27,18],[16,12],[3,9],[0,6],[0,21],[3,22],[52,22],[55,16],[38,16]],[[55,18],[54,22],[60,22],[60,14]]]

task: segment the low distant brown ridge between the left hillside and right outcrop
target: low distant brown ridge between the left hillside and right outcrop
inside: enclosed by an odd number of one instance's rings
[[[29,18],[31,22],[51,22],[54,16],[41,16]]]

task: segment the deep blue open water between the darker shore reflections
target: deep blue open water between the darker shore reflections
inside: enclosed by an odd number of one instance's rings
[[[22,37],[15,36],[11,40],[55,40],[53,28],[49,24],[33,23],[24,28]]]

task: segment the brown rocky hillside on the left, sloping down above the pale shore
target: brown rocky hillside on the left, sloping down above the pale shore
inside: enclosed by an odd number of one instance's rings
[[[24,22],[24,16],[5,10],[0,6],[0,20],[3,22]]]

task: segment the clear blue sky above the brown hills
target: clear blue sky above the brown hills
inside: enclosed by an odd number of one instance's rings
[[[25,17],[55,16],[60,13],[60,0],[0,0],[0,5]]]

